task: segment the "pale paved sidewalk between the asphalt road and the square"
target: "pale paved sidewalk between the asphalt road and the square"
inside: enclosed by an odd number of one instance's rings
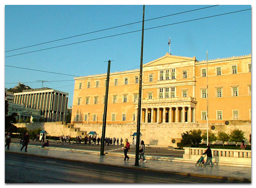
[[[109,165],[121,168],[131,168],[137,170],[148,170],[148,171],[157,171],[165,172],[170,174],[179,174],[179,175],[189,175],[189,176],[198,176],[198,177],[207,177],[207,178],[217,178],[217,179],[228,179],[236,181],[246,181],[251,182],[251,168],[249,167],[234,167],[234,166],[220,166],[213,165],[211,168],[210,165],[204,166],[195,166],[195,162],[176,162],[176,161],[166,161],[158,160],[158,156],[154,156],[154,160],[145,157],[147,162],[139,161],[140,166],[134,166],[135,159],[134,155],[129,155],[129,161],[124,161],[124,156],[120,156],[120,153],[105,150],[106,155],[100,156],[100,151],[89,151],[83,150],[79,151],[78,149],[70,148],[53,148],[53,147],[37,147],[35,145],[28,146],[28,152],[24,152],[25,148],[20,151],[21,146],[19,144],[10,144],[10,149],[6,152],[10,153],[19,153],[24,155],[33,155],[40,157],[47,157],[52,159],[62,159],[62,160],[71,160],[84,163],[92,164],[101,164]]]

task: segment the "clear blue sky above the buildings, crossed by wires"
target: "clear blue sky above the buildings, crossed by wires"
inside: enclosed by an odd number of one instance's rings
[[[208,6],[211,5],[146,5],[145,20]],[[206,60],[206,51],[209,60],[250,54],[251,10],[148,29],[250,8],[250,5],[222,5],[145,21],[147,30],[144,32],[143,63],[169,53],[169,37],[173,55],[196,56],[198,61]],[[142,5],[6,5],[5,51],[139,22],[142,20],[142,11]],[[5,65],[74,76],[106,73],[108,64],[105,61],[108,60],[112,60],[110,72],[139,68],[141,31],[34,53],[27,52],[136,31],[141,27],[142,23],[137,23],[6,52]],[[27,54],[6,57],[20,53]],[[44,87],[69,93],[69,107],[73,100],[73,78],[5,66],[6,88],[17,86],[19,81],[32,88],[41,88],[42,82],[29,82],[46,80],[49,82],[44,82]]]

